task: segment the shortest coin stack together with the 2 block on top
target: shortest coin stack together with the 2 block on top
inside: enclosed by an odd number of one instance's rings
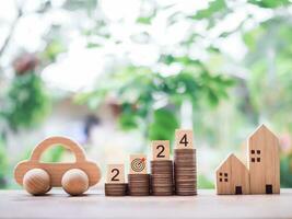
[[[126,196],[128,185],[125,183],[124,164],[107,165],[106,196]]]

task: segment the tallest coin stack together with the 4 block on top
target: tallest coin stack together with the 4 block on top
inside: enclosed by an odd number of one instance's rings
[[[175,136],[174,175],[176,195],[197,195],[197,164],[192,130],[178,129]]]

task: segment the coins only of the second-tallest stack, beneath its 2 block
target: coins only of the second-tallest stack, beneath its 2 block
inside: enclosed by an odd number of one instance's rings
[[[152,195],[173,195],[173,161],[151,161]]]

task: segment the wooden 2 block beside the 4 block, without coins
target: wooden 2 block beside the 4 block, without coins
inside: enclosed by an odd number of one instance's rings
[[[153,160],[170,160],[170,141],[153,140],[152,141]]]

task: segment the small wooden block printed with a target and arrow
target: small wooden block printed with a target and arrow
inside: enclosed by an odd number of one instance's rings
[[[130,155],[130,174],[147,174],[147,155]]]

